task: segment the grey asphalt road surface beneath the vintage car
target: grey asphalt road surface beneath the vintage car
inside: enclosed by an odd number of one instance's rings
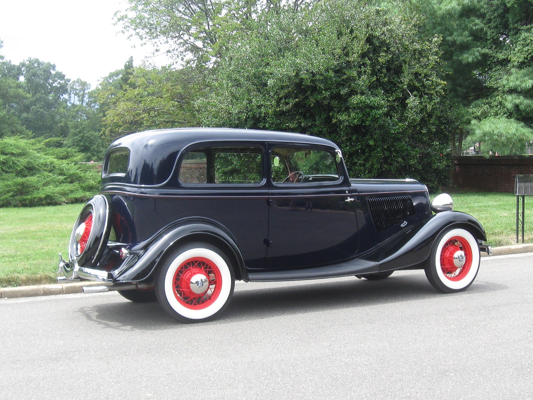
[[[237,283],[185,325],[118,293],[0,300],[0,399],[533,399],[533,253],[484,258],[469,290],[384,281]]]

